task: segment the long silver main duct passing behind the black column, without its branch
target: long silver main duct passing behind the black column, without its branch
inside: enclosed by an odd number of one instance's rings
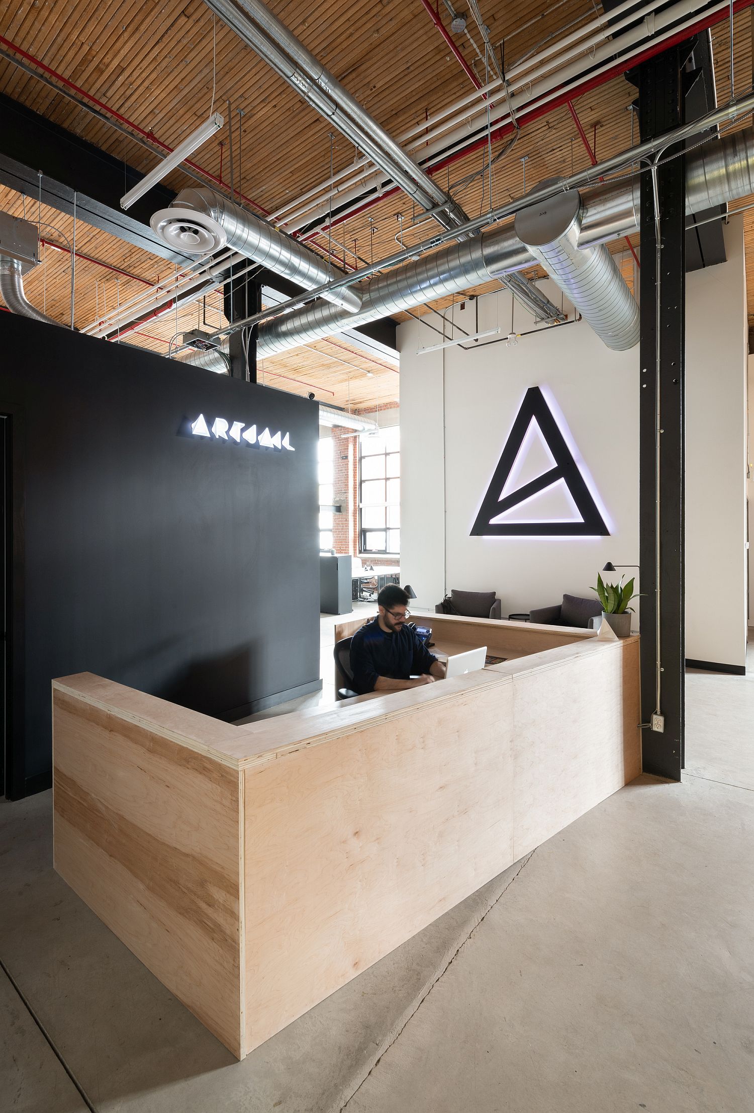
[[[585,191],[578,248],[638,232],[638,177]],[[754,193],[754,129],[734,132],[686,155],[688,215],[751,193]],[[509,225],[492,228],[476,239],[454,244],[363,283],[357,287],[363,294],[361,311],[353,317],[335,306],[314,302],[285,317],[262,323],[257,352],[260,356],[275,355],[354,325],[423,305],[433,297],[460,293],[473,282],[487,282],[535,262]],[[625,294],[621,296],[625,299]],[[579,308],[584,313],[584,306]]]

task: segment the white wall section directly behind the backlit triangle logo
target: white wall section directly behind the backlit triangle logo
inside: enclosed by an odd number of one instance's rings
[[[552,283],[542,288],[559,305]],[[466,305],[456,321],[473,333],[475,309],[472,302]],[[510,296],[505,292],[479,305],[479,331],[498,323],[507,334]],[[533,327],[518,306],[515,327]],[[504,613],[528,611],[559,602],[564,592],[589,595],[608,560],[638,560],[635,352],[609,352],[584,322],[522,336],[510,348],[505,342],[483,347],[482,341],[472,352],[452,347],[416,355],[437,337],[415,322],[401,325],[399,337],[401,568],[420,605],[439,602],[446,588],[495,588]],[[552,391],[596,480],[612,536],[469,536],[529,386]]]

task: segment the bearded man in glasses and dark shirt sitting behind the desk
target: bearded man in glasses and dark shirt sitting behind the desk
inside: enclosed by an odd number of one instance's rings
[[[406,626],[410,614],[407,603],[408,595],[403,588],[388,584],[377,595],[377,618],[354,634],[350,670],[359,696],[418,688],[445,676],[445,666],[429,652],[416,631]]]

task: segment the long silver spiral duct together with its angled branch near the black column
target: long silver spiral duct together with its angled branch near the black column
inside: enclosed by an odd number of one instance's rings
[[[688,214],[754,193],[752,128],[710,142],[687,154],[685,159]],[[564,191],[558,196],[568,195]],[[474,239],[423,255],[360,284],[357,288],[361,306],[353,316],[337,304],[319,301],[262,323],[257,352],[260,356],[275,355],[390,313],[460,293],[475,283],[520,270],[536,260],[543,263],[609,347],[617,351],[633,347],[638,339],[638,306],[607,248],[597,245],[638,230],[638,177],[591,189],[584,203],[578,200],[577,211],[574,198],[578,195],[572,193],[571,197],[564,204],[572,206],[572,227],[566,229],[567,220],[565,225],[562,223],[549,234],[554,240],[539,236],[536,252],[534,246],[522,243],[510,225],[490,228]]]

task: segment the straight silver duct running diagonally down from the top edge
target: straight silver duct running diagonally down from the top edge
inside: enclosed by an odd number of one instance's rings
[[[464,224],[466,214],[421,170],[373,116],[299,42],[259,0],[205,0],[312,108],[338,128],[424,209],[437,213],[446,228]]]

